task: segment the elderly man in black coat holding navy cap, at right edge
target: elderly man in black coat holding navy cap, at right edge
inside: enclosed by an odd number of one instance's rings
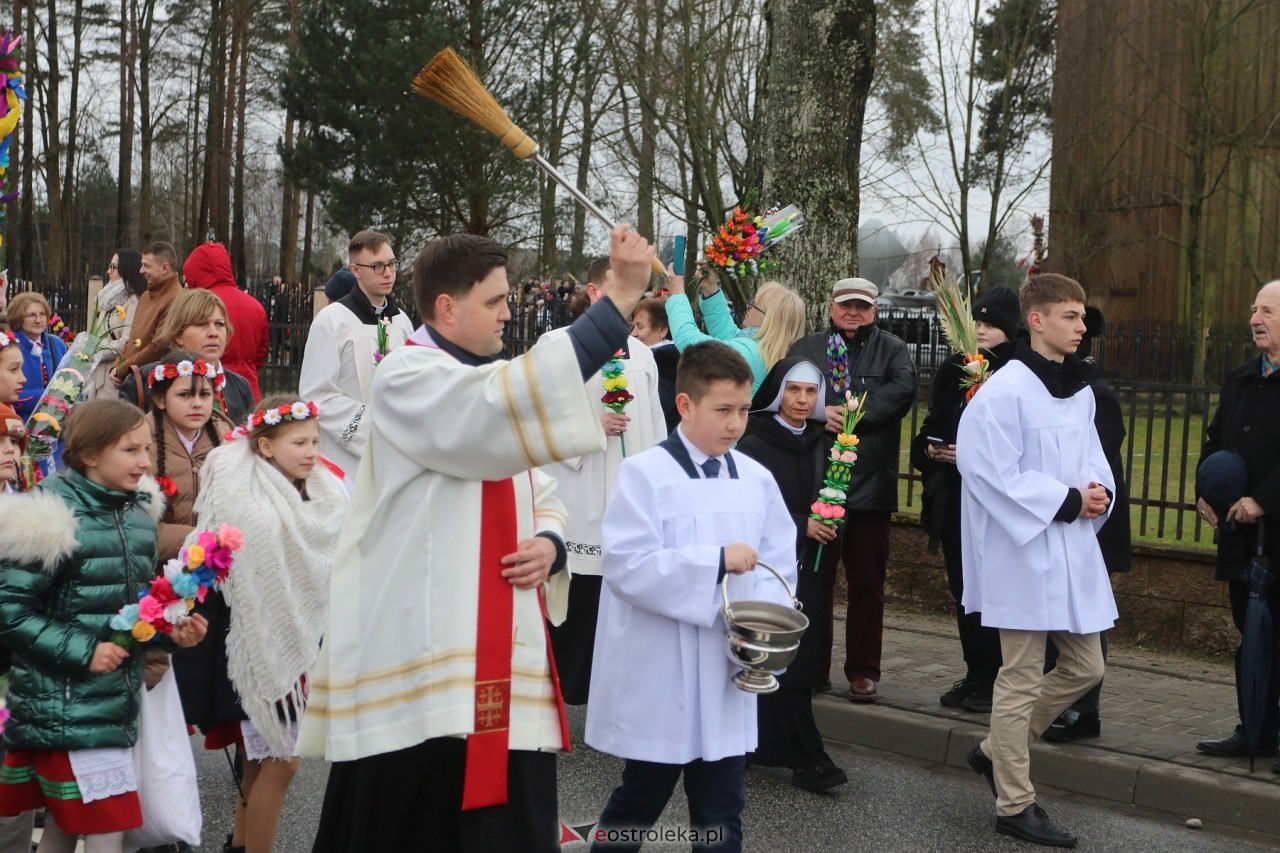
[[[1220,450],[1239,453],[1248,470],[1247,491],[1228,508],[1225,517],[1219,517],[1217,510],[1203,497],[1196,502],[1204,520],[1219,529],[1217,579],[1228,581],[1231,616],[1240,630],[1249,599],[1249,588],[1240,580],[1240,570],[1254,553],[1258,535],[1265,534],[1266,557],[1272,565],[1280,565],[1280,524],[1276,523],[1280,519],[1280,442],[1275,437],[1275,426],[1280,424],[1280,280],[1258,291],[1249,328],[1258,357],[1228,374],[1201,451],[1201,459]],[[1280,583],[1271,584],[1267,603],[1274,616],[1271,679],[1258,752],[1275,754],[1280,745]],[[1239,649],[1235,652],[1235,689],[1243,719]],[[1242,726],[1226,738],[1201,740],[1196,748],[1211,756],[1249,754]],[[1280,774],[1280,761],[1272,768]]]

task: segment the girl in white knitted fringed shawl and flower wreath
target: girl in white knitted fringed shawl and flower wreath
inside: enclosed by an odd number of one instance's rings
[[[320,653],[347,493],[320,459],[316,405],[280,394],[259,403],[244,437],[209,455],[201,479],[201,526],[239,528],[243,547],[221,592],[209,597],[223,602],[225,629],[175,666],[179,681],[198,680],[210,699],[186,704],[188,719],[234,742],[243,761],[225,849],[269,853],[298,768],[297,722]],[[197,654],[204,669],[192,671]],[[234,707],[225,695],[238,699]]]

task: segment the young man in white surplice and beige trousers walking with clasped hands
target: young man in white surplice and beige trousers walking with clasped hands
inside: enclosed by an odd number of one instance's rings
[[[1029,744],[1102,679],[1098,634],[1117,612],[1097,532],[1115,483],[1093,425],[1093,391],[1073,355],[1084,333],[1083,288],[1041,274],[1019,298],[1030,346],[1019,343],[978,389],[956,433],[961,603],[1000,629],[1004,657],[991,734],[968,761],[996,794],[997,833],[1073,847],[1075,836],[1036,803]],[[1048,674],[1046,637],[1061,654]]]

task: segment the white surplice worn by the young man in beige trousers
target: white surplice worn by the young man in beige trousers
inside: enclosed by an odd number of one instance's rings
[[[1097,539],[1107,516],[1053,520],[1070,488],[1093,482],[1115,492],[1093,411],[1091,388],[1053,397],[1020,361],[1005,365],[965,407],[956,434],[961,603],[980,611],[983,625],[1092,634],[1115,624]]]

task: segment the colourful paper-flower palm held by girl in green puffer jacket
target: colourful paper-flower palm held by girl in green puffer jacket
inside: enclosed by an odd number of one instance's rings
[[[227,580],[233,556],[241,549],[239,528],[224,524],[218,532],[201,530],[187,539],[177,560],[164,566],[164,575],[111,617],[111,642],[124,648],[154,643],[160,634],[172,634],[187,619],[197,601],[205,601],[210,588]]]

